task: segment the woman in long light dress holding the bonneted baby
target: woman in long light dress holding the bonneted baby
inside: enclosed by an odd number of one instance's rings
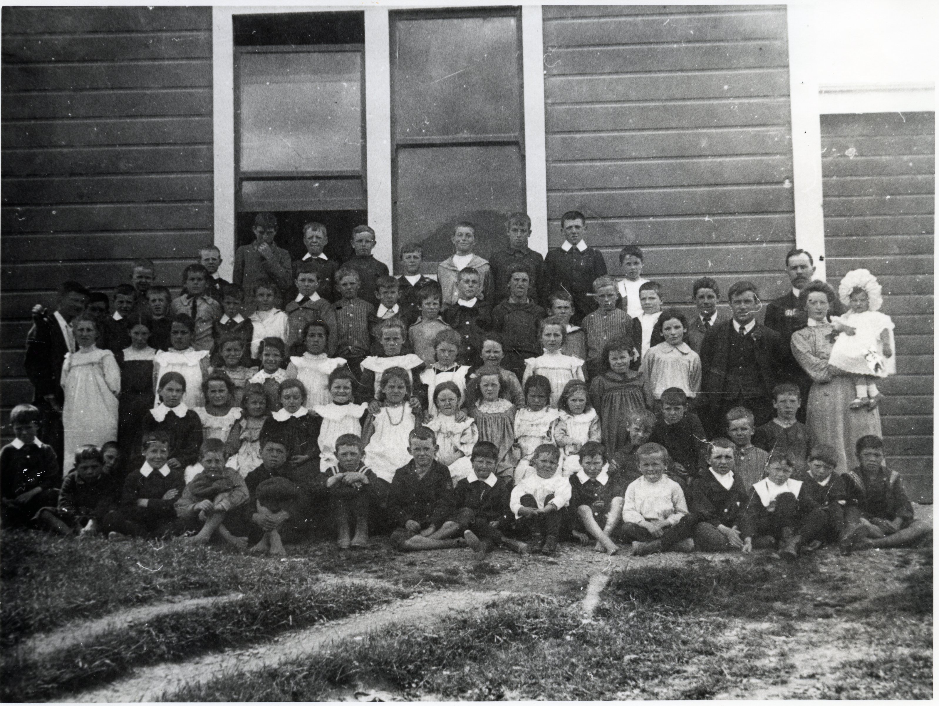
[[[832,346],[838,336],[828,319],[838,297],[824,282],[812,282],[799,295],[799,302],[808,313],[808,326],[793,333],[795,360],[812,378],[806,407],[806,426],[810,444],[831,444],[838,450],[839,473],[856,466],[854,443],[872,434],[882,436],[880,412],[874,409],[852,409],[853,377],[828,364]]]

